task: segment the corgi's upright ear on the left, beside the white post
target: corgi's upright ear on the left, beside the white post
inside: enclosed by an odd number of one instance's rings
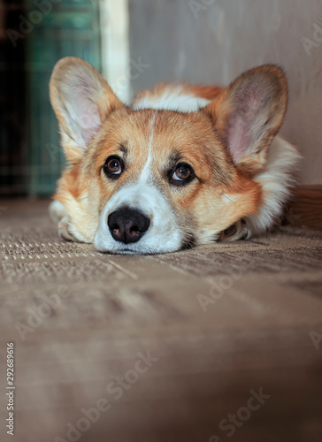
[[[112,110],[124,106],[99,72],[77,57],[58,61],[50,79],[65,156],[77,162]]]

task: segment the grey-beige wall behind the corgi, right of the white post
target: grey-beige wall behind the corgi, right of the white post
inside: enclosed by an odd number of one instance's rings
[[[129,11],[130,55],[149,65],[132,80],[134,92],[162,80],[227,84],[255,65],[284,67],[282,133],[303,152],[302,182],[322,184],[321,0],[129,0]]]

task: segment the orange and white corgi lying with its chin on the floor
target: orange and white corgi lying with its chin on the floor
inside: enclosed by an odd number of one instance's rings
[[[227,88],[159,85],[119,101],[77,57],[50,79],[67,167],[50,214],[65,240],[116,254],[249,239],[281,216],[301,156],[279,135],[284,72],[262,65]]]

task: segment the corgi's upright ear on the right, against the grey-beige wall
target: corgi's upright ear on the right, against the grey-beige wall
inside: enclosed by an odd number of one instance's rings
[[[279,132],[288,104],[288,83],[275,65],[243,73],[206,108],[237,166],[256,172]]]

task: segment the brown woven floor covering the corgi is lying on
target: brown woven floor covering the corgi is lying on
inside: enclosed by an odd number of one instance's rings
[[[0,202],[0,440],[321,442],[322,233],[168,255],[58,238]],[[253,399],[252,399],[253,398]]]

